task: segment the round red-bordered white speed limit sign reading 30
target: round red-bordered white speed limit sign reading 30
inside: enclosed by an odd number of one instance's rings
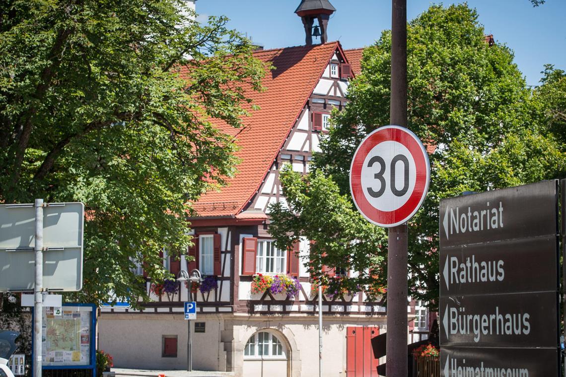
[[[367,135],[350,166],[350,192],[362,215],[380,227],[395,227],[421,207],[430,164],[413,132],[386,125]]]

